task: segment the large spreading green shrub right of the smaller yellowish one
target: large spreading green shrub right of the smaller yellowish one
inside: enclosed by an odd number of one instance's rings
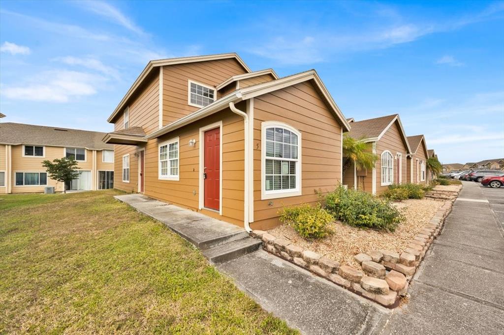
[[[389,201],[343,187],[326,195],[326,208],[345,224],[376,230],[394,231],[403,219]]]

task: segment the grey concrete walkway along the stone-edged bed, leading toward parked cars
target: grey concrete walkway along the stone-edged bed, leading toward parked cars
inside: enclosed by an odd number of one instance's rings
[[[464,182],[384,334],[504,333],[504,238],[479,184]]]

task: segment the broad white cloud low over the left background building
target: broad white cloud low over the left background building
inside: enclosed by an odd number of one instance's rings
[[[8,99],[65,103],[75,98],[94,95],[103,77],[77,71],[54,70],[40,73],[25,85],[3,86]]]

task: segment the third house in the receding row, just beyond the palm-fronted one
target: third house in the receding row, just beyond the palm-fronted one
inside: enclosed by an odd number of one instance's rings
[[[426,161],[429,156],[423,135],[408,136],[411,153],[408,154],[407,180],[413,184],[427,184],[429,177]]]

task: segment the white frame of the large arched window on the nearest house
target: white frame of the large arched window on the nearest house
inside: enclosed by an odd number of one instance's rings
[[[284,128],[287,129],[291,132],[293,132],[295,135],[297,135],[297,159],[294,158],[278,158],[278,157],[266,157],[266,129],[267,128]],[[277,199],[277,198],[287,198],[287,197],[295,197],[295,196],[300,196],[302,193],[302,187],[301,187],[301,146],[302,146],[302,139],[301,139],[301,132],[297,130],[296,128],[292,127],[291,125],[288,125],[283,122],[279,121],[264,121],[261,123],[261,200],[267,200],[267,199]],[[296,188],[295,189],[288,189],[288,190],[266,190],[266,159],[272,159],[272,160],[290,160],[290,161],[296,161]]]

